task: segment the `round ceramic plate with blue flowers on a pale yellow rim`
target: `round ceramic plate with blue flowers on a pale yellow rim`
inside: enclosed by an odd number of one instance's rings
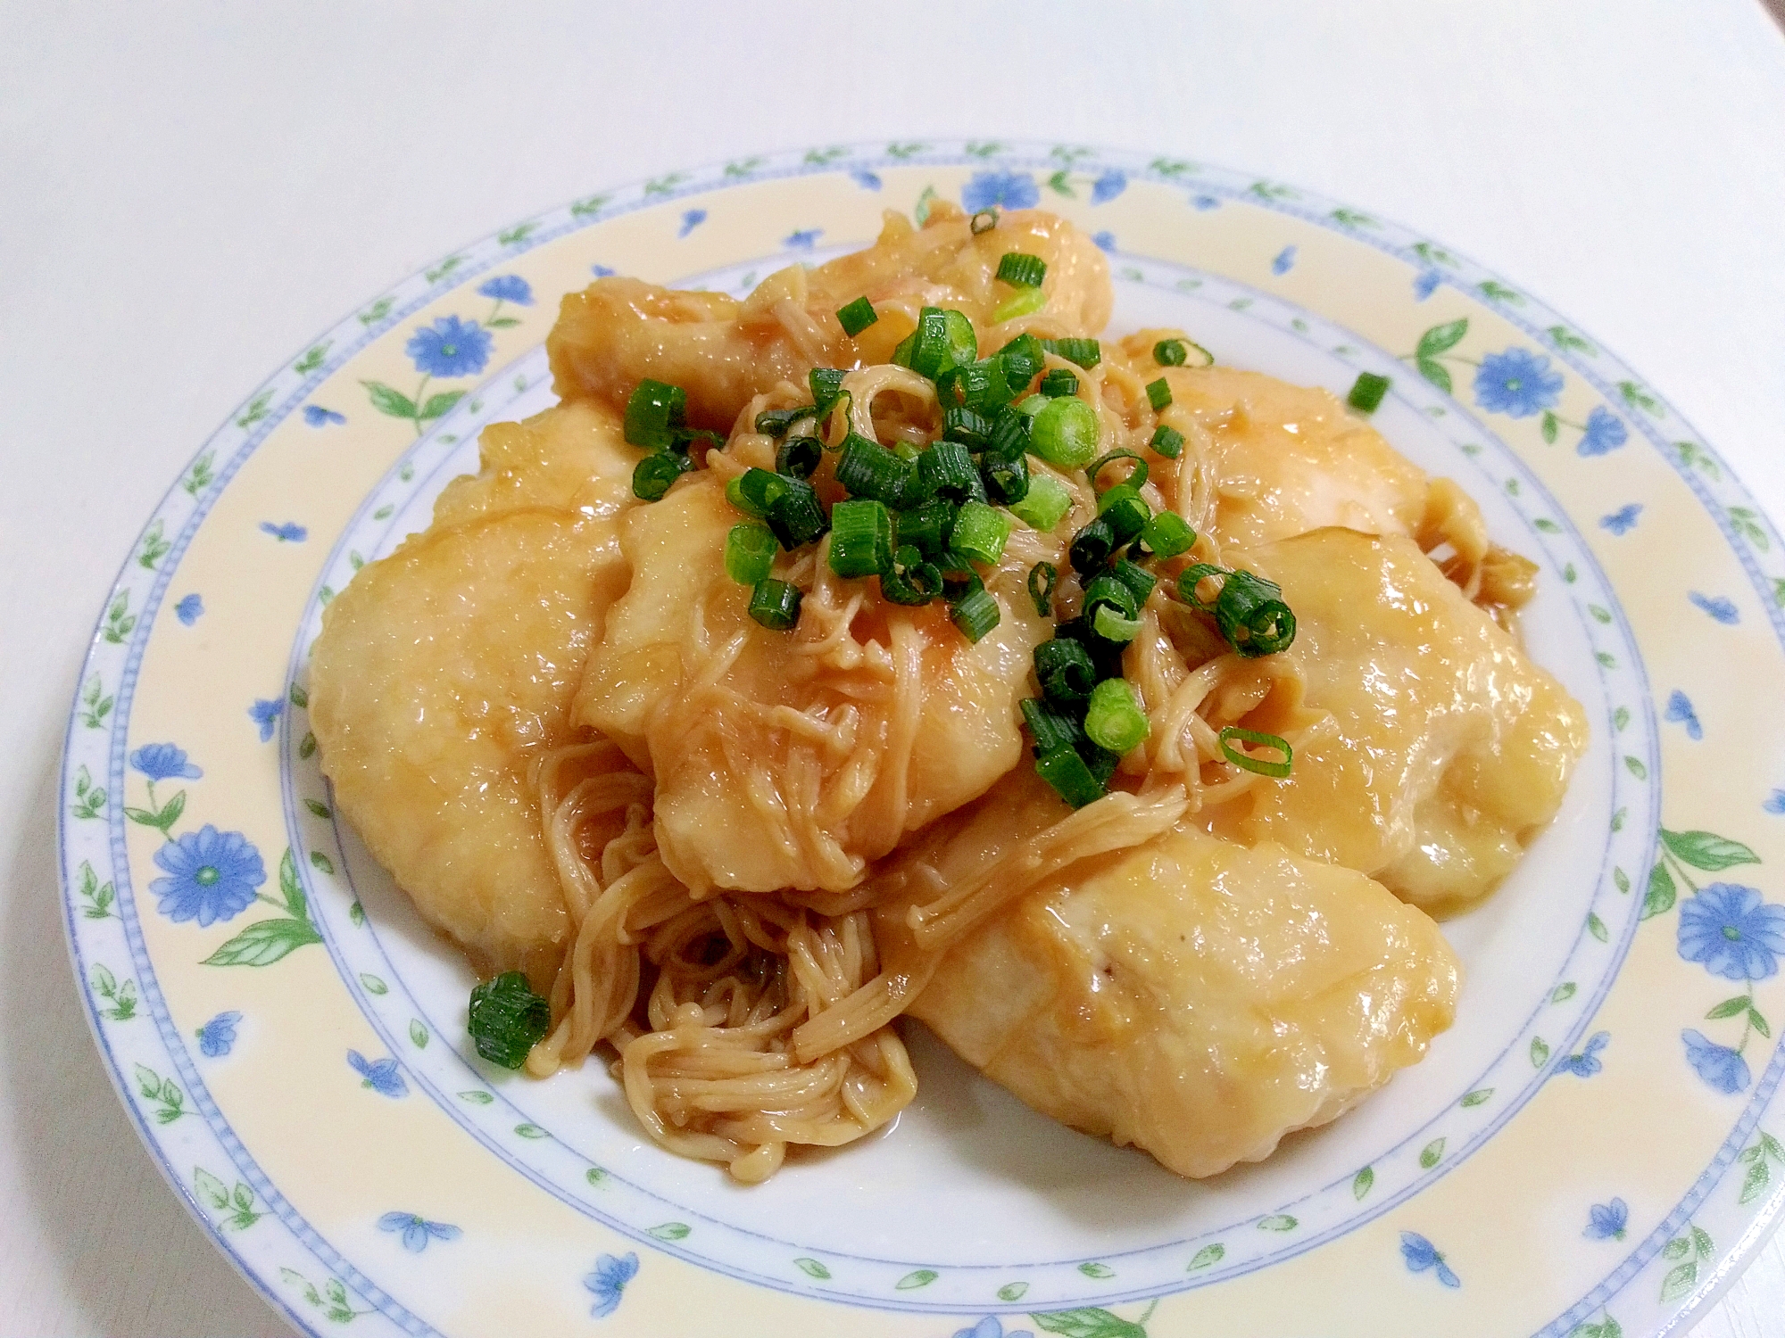
[[[882,1136],[759,1188],[641,1138],[596,1069],[471,1056],[469,969],[332,817],[307,648],[361,562],[550,403],[594,273],[743,293],[934,196],[1092,232],[1114,330],[1344,392],[1542,564],[1524,628],[1592,747],[1446,924],[1430,1058],[1187,1183],[912,1029]],[[1785,1195],[1785,560],[1728,469],[1533,296],[1360,211],[1073,146],[814,148],[607,191],[446,257],[255,391],[155,508],[68,726],[68,929],[125,1106],[307,1333],[1658,1334]]]

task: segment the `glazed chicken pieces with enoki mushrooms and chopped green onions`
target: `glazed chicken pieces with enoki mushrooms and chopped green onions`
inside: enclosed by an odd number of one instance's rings
[[[910,1103],[909,1013],[1212,1176],[1449,1026],[1432,913],[1585,747],[1517,637],[1535,566],[1369,426],[1382,385],[1110,307],[1069,223],[948,205],[743,301],[564,300],[560,403],[486,430],[311,665],[486,1060],[600,1054],[760,1181]]]

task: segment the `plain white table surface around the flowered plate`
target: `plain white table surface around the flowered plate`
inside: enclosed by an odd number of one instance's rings
[[[816,141],[1244,166],[1539,294],[1785,519],[1785,39],[1756,0],[950,11],[0,7],[0,1334],[286,1333],[100,1069],[57,749],[105,591],[196,446],[312,332],[494,227]],[[1698,1338],[1785,1336],[1781,1242]]]

